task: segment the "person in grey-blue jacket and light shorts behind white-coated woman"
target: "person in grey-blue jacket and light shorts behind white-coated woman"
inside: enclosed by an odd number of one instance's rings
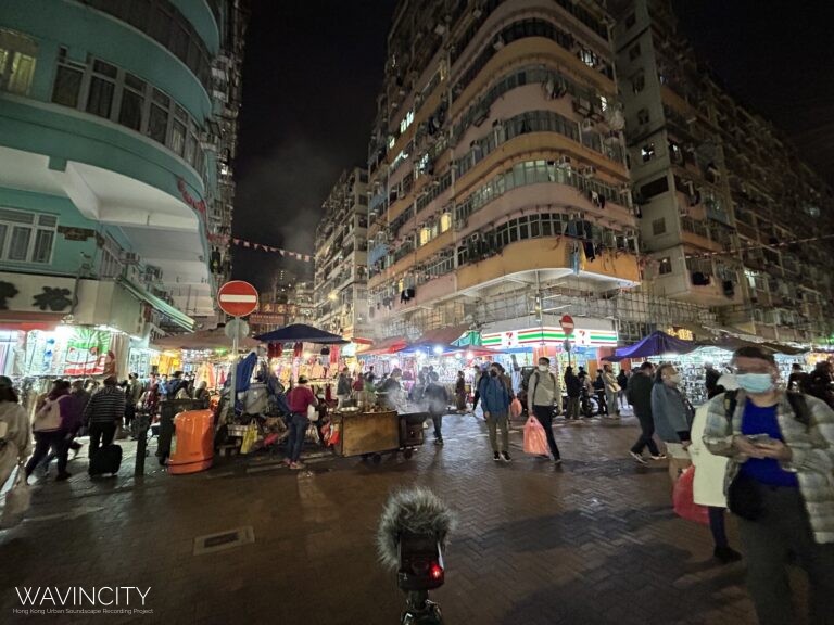
[[[678,388],[680,383],[681,374],[672,363],[665,362],[657,368],[652,387],[652,417],[657,435],[666,443],[672,482],[690,465],[686,448],[691,443],[693,411]]]

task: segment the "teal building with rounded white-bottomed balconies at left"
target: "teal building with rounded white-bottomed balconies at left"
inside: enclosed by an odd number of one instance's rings
[[[214,318],[245,17],[243,0],[3,3],[7,332],[63,322],[147,344]]]

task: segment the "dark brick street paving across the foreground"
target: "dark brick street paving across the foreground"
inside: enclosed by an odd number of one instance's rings
[[[664,462],[628,457],[633,419],[558,423],[559,468],[522,454],[521,424],[510,464],[492,461],[471,416],[446,417],[444,433],[410,460],[321,458],[300,474],[250,457],[172,476],[151,457],[135,480],[128,454],[123,475],[91,482],[78,460],[0,532],[0,623],[397,623],[403,597],[372,535],[388,493],[410,484],[459,516],[433,592],[450,624],[755,623],[743,564],[717,565],[708,528],[672,513]],[[242,526],[254,543],[193,554],[195,537]],[[153,614],[12,613],[15,586],[46,585],[150,586]]]

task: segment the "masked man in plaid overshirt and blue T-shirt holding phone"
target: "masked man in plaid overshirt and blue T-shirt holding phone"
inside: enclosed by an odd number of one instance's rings
[[[710,400],[704,443],[730,460],[724,477],[761,625],[799,623],[786,570],[793,552],[810,586],[811,625],[834,623],[834,411],[779,388],[772,354],[733,355],[740,391]]]

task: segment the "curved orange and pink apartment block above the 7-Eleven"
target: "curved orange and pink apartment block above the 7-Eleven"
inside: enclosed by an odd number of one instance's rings
[[[374,327],[572,304],[612,328],[641,280],[622,128],[598,3],[401,2],[369,146]]]

